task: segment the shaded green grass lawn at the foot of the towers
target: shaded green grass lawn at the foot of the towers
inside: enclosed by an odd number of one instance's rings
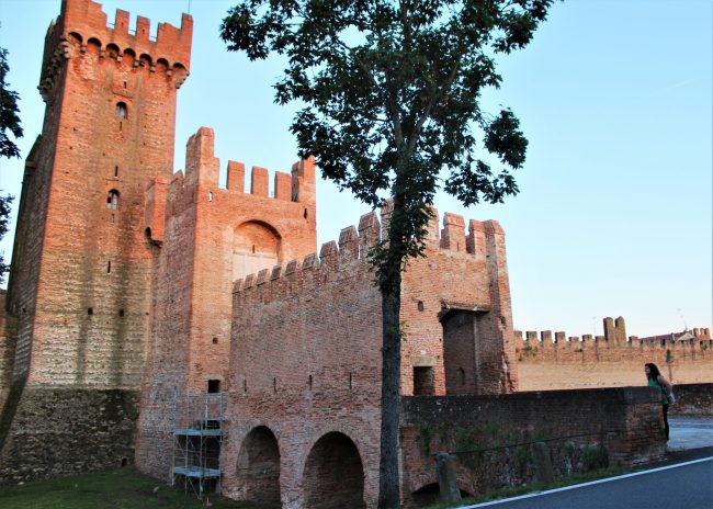
[[[218,497],[211,497],[211,502],[215,509],[263,507]],[[0,487],[2,509],[197,509],[202,507],[193,491],[186,494],[182,488],[172,488],[140,474],[133,467]]]

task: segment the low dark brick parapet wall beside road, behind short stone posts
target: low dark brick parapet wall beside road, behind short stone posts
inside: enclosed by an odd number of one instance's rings
[[[547,443],[557,477],[597,456],[624,465],[657,460],[666,450],[661,418],[649,387],[405,397],[404,500],[409,506],[438,483],[438,452],[454,455],[460,488],[473,495],[534,480],[536,440]]]

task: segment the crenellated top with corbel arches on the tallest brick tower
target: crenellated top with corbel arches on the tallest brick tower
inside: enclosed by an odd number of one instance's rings
[[[117,9],[114,23],[107,23],[101,3],[63,0],[59,18],[47,29],[39,91],[49,103],[63,63],[78,56],[94,56],[136,71],[160,73],[180,88],[189,75],[192,36],[190,14],[182,15],[180,29],[159,23],[154,38],[147,18],[137,16],[132,29],[127,11]]]

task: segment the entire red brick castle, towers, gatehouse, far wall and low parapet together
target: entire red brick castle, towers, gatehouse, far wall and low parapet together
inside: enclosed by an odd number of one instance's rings
[[[313,159],[274,172],[272,185],[268,169],[230,160],[222,188],[215,134],[201,127],[173,173],[192,19],[159,24],[156,41],[148,20],[129,30],[128,19],[118,10],[107,27],[99,3],[65,0],[45,39],[45,122],[0,293],[0,483],[133,461],[169,480],[172,432],[191,423],[185,401],[213,387],[228,395],[228,496],[374,507],[382,310],[366,253],[392,205],[317,252]],[[437,450],[552,438],[558,474],[581,470],[592,450],[626,464],[660,456],[660,405],[647,388],[519,388],[643,385],[642,357],[675,382],[710,381],[697,374],[711,363],[708,329],[675,344],[627,342],[620,318],[596,341],[523,340],[497,222],[440,223],[433,210],[425,255],[401,287],[409,505],[432,491]],[[635,376],[608,374],[622,366]],[[710,408],[705,388],[679,396]],[[508,451],[483,453],[477,467],[459,456],[462,489],[530,479],[530,450]]]

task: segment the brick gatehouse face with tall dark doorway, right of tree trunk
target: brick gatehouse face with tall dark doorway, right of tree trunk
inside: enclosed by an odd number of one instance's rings
[[[466,235],[463,217],[450,213],[439,231],[433,212],[426,258],[409,260],[403,276],[401,393],[511,392],[518,373],[505,231],[469,220]],[[414,374],[430,360],[434,391],[415,392]]]

